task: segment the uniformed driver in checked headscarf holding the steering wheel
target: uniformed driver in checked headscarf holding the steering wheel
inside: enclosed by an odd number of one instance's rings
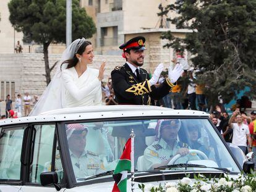
[[[169,161],[180,154],[182,157],[177,159],[176,163],[186,163],[190,160],[198,160],[197,154],[189,154],[189,146],[186,143],[177,141],[177,133],[181,127],[181,121],[178,119],[161,120],[158,130],[158,141],[148,146],[144,151],[144,165],[148,170],[156,167],[168,165]],[[189,156],[186,156],[189,154]]]

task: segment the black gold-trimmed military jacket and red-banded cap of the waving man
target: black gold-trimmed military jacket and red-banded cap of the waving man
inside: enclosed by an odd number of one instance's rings
[[[124,52],[127,49],[145,50],[145,38],[137,36],[122,44],[119,48]],[[132,72],[126,63],[121,67],[117,66],[111,72],[114,93],[119,104],[148,105],[150,98],[159,100],[166,96],[175,86],[169,78],[164,80],[160,86],[150,86],[148,80],[150,75],[147,70],[140,68],[140,77]]]

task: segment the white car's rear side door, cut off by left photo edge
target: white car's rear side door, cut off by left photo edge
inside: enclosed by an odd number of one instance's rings
[[[0,191],[21,190],[22,143],[27,127],[28,125],[0,127]]]

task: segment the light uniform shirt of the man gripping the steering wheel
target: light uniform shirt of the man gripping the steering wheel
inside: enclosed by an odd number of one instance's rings
[[[170,157],[175,156],[180,148],[189,147],[186,143],[176,141],[173,149],[171,149],[163,139],[155,141],[144,151],[144,166],[147,167],[148,170],[151,170],[152,165],[160,164],[161,162],[168,160]],[[187,156],[177,159],[175,164],[186,163],[187,161],[198,159],[197,154],[188,154]]]

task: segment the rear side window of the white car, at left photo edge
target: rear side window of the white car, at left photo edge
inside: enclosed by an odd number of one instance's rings
[[[20,156],[25,126],[3,128],[0,133],[0,179],[20,180]]]

